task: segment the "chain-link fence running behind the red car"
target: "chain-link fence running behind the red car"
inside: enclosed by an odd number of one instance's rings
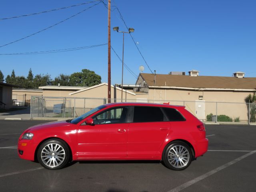
[[[121,99],[114,98],[111,99],[111,102],[121,102]],[[123,99],[122,102],[169,103],[171,105],[181,105],[185,106],[186,109],[198,119],[208,122],[256,122],[255,103],[205,102],[204,100],[163,101],[146,99]],[[75,118],[106,103],[106,98],[32,96],[31,118]]]

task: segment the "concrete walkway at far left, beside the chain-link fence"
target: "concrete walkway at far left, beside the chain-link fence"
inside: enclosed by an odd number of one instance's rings
[[[26,108],[17,111],[0,112],[0,119],[5,118],[21,118],[22,120],[30,120],[30,106],[28,107],[15,107],[15,108]]]

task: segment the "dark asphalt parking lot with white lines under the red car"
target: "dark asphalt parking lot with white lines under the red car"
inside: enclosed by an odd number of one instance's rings
[[[45,122],[45,121],[44,121]],[[74,162],[56,171],[18,158],[23,130],[42,121],[0,120],[0,191],[255,191],[256,126],[206,125],[208,152],[183,171],[159,161]]]

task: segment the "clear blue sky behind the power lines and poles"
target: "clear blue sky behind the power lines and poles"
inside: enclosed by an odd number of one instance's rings
[[[51,10],[89,0],[1,0],[0,18]],[[106,0],[105,0],[106,2]],[[92,4],[91,4],[92,5]],[[236,71],[256,76],[256,1],[255,0],[112,0],[118,6],[144,58],[158,74],[195,69],[205,76],[232,76]],[[0,46],[51,26],[89,5],[0,20]],[[107,36],[107,9],[99,4],[44,32],[0,48],[0,54],[34,52],[104,44]],[[116,10],[111,13],[111,28],[126,30]],[[122,34],[111,31],[111,44],[122,56]],[[71,74],[83,68],[93,70],[107,82],[107,46],[35,55],[0,55],[0,70],[11,74]],[[122,63],[111,54],[112,84],[121,83]],[[135,74],[145,66],[134,42],[125,36],[124,62]],[[187,73],[186,73],[187,74]],[[124,84],[136,78],[124,68]]]

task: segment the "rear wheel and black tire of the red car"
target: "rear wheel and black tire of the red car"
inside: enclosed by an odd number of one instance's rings
[[[177,151],[178,154],[175,153],[174,150]],[[182,141],[171,142],[164,148],[162,161],[169,169],[184,170],[188,168],[192,161],[191,148]]]

